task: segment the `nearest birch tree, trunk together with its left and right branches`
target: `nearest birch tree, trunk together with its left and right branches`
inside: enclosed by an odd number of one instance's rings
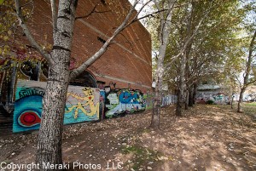
[[[26,26],[26,20],[22,14],[20,0],[15,0],[15,9],[28,41],[32,44],[39,54],[42,54],[49,64],[49,77],[43,99],[43,111],[41,127],[38,134],[38,152],[36,162],[40,165],[40,170],[51,170],[43,168],[43,163],[61,164],[61,140],[63,115],[67,99],[67,88],[71,79],[79,76],[87,67],[99,59],[106,52],[113,39],[119,35],[125,27],[137,21],[137,15],[148,3],[144,3],[136,15],[135,7],[139,0],[136,0],[125,20],[116,28],[113,35],[102,45],[95,54],[73,71],[69,71],[71,47],[73,41],[73,26],[75,21],[75,10],[78,0],[60,0],[57,8],[56,1],[50,0],[53,22],[54,46],[49,54],[36,42],[31,32]],[[58,12],[56,11],[58,9]]]

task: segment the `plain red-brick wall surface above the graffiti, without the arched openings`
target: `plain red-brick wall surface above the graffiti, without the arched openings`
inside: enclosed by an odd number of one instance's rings
[[[73,37],[73,53],[75,66],[101,48],[103,40],[107,40],[119,26],[128,13],[131,4],[128,0],[81,0],[79,1],[76,16],[84,16],[96,7],[97,11],[88,18],[76,20]],[[113,2],[110,4],[109,2]],[[49,1],[35,0],[35,9],[29,27],[36,39],[41,42],[52,43],[51,12]],[[46,41],[45,41],[46,40]],[[151,38],[148,31],[140,22],[135,22],[120,34],[115,43],[110,45],[108,51],[99,60],[88,68],[97,81],[108,85],[116,83],[116,88],[141,89],[151,88]]]

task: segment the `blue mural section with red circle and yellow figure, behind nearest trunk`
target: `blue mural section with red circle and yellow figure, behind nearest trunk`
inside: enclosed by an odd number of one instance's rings
[[[15,92],[13,132],[38,129],[46,83],[18,80]],[[64,124],[98,120],[100,89],[69,86]]]

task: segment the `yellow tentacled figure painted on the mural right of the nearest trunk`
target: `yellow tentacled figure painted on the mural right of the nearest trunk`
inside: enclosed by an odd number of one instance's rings
[[[95,113],[96,113],[96,114],[97,114],[97,117],[99,117],[99,105],[100,105],[100,103],[97,102],[97,104],[94,105],[94,102],[93,102],[93,100],[94,100],[94,95],[92,94],[93,90],[92,90],[91,88],[83,88],[82,90],[83,90],[83,93],[84,93],[84,95],[85,95],[84,97],[79,96],[79,95],[77,95],[77,94],[73,94],[73,93],[68,92],[68,93],[67,93],[67,98],[68,98],[68,96],[70,95],[70,96],[72,96],[73,98],[75,98],[76,100],[84,100],[84,101],[87,101],[87,102],[84,103],[84,104],[81,104],[80,102],[78,102],[77,105],[73,105],[73,106],[67,108],[68,110],[65,111],[65,112],[69,113],[69,112],[73,111],[73,109],[75,109],[75,112],[74,112],[74,118],[75,118],[75,119],[76,119],[76,118],[78,117],[78,115],[79,115],[79,110],[81,110],[81,111],[82,111],[85,115],[87,115],[87,116],[92,117],[92,116],[94,116]],[[88,112],[88,111],[86,111],[86,110],[84,109],[84,106],[86,106],[86,105],[89,105],[89,106],[90,106],[90,112]]]

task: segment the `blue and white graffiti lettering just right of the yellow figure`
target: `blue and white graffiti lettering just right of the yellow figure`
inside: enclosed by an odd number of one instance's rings
[[[143,94],[139,90],[120,89],[110,92],[106,100],[106,117],[112,117],[125,112],[143,111],[146,109]]]

